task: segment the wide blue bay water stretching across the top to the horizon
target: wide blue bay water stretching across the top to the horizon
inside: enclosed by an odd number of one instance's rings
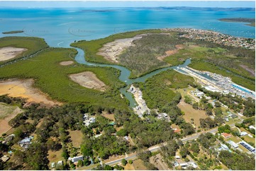
[[[219,18],[255,18],[255,11],[206,11],[148,8],[0,8],[0,32],[45,38],[52,47],[148,28],[196,28],[255,38],[255,28]],[[0,37],[10,36],[0,33]]]

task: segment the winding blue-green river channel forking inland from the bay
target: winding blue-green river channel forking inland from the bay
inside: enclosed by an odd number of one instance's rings
[[[74,48],[74,47],[72,47]],[[156,71],[152,71],[151,73],[148,73],[144,76],[141,76],[139,78],[135,78],[135,79],[129,79],[130,76],[130,70],[126,69],[126,67],[123,66],[118,66],[118,65],[112,65],[112,64],[97,64],[97,63],[92,63],[86,60],[85,55],[84,55],[84,51],[82,49],[79,48],[75,48],[77,49],[77,56],[74,58],[79,64],[85,64],[88,66],[103,66],[103,67],[113,67],[115,69],[118,69],[121,71],[121,74],[119,76],[119,80],[123,81],[124,83],[126,83],[126,87],[125,88],[121,88],[120,92],[126,96],[126,98],[129,100],[130,102],[130,107],[135,107],[137,105],[136,101],[133,98],[133,95],[131,93],[129,93],[127,91],[127,89],[129,88],[129,86],[133,83],[142,83],[145,82],[146,79],[155,76],[157,73],[160,73],[162,71],[167,71],[168,69],[175,69],[177,71],[179,71],[180,73],[184,73],[186,74],[184,71],[179,70],[180,67],[186,67],[191,63],[191,59],[187,59],[184,64],[178,65],[178,66],[169,66],[169,67],[165,67],[162,69],[158,69]]]

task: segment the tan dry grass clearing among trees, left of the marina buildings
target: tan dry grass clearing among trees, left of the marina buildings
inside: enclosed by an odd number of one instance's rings
[[[196,127],[200,126],[199,119],[205,119],[207,117],[204,110],[195,110],[191,105],[185,103],[183,100],[178,104],[179,109],[181,109],[185,114],[183,118],[186,122],[191,122],[194,119],[194,125]]]

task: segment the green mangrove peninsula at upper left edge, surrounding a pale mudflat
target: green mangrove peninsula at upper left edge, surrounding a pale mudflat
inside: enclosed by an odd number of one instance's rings
[[[26,57],[30,54],[40,51],[48,47],[45,40],[39,37],[1,37],[0,38],[0,48],[1,47],[20,47],[28,49],[26,52],[19,54],[13,59],[8,61],[13,61],[15,59]],[[0,61],[0,65],[8,61]]]

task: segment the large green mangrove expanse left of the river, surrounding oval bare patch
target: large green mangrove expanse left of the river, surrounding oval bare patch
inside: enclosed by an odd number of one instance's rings
[[[0,78],[34,78],[35,87],[60,102],[89,102],[101,107],[126,109],[127,102],[121,98],[118,91],[124,86],[124,83],[118,80],[120,71],[106,67],[87,67],[76,62],[70,66],[60,66],[60,61],[70,60],[69,54],[75,52],[75,49],[45,49],[33,57],[33,61],[23,60],[1,67]],[[97,78],[108,86],[108,89],[103,93],[99,90],[84,88],[69,80],[69,74],[82,71],[95,73]]]

